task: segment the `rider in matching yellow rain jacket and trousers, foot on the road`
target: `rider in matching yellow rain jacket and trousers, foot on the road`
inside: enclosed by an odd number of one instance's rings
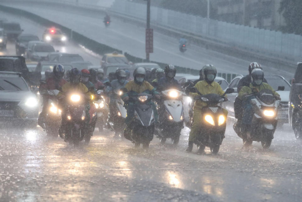
[[[216,78],[217,70],[212,64],[205,65],[202,68],[202,76],[204,80],[199,81],[194,87],[202,95],[207,95],[210,93],[215,93],[220,96],[223,96],[224,91],[222,90],[221,86],[214,81]],[[192,97],[200,97],[197,93],[190,93]],[[227,99],[225,97],[225,99]],[[189,143],[188,148],[186,151],[191,152],[193,149],[193,143],[195,141],[195,137],[200,133],[200,119],[203,117],[203,107],[206,106],[206,103],[201,100],[196,100],[193,107],[193,125],[191,127],[191,131],[189,134]],[[227,111],[223,110],[225,115],[227,115]]]

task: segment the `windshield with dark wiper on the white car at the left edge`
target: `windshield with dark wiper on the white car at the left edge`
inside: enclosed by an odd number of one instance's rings
[[[16,76],[1,76],[0,75],[0,90],[29,90],[25,81],[21,77]]]

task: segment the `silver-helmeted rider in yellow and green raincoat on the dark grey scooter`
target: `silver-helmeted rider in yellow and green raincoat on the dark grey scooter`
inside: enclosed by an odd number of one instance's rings
[[[124,93],[122,96],[122,99],[126,103],[129,100],[129,96],[134,96],[134,95],[142,93],[142,92],[147,92],[148,94],[152,94],[157,99],[160,98],[159,93],[155,90],[155,88],[145,80],[146,70],[143,67],[136,68],[133,72],[133,77],[134,77],[134,80],[129,81],[125,85],[125,88],[128,90],[128,92]],[[125,128],[125,131],[124,131],[124,136],[126,139],[129,139],[127,137],[129,137],[129,135],[131,133],[131,129],[133,127],[132,119],[134,117],[134,106],[135,106],[135,103],[128,102],[127,116],[126,116],[126,120],[125,120],[127,127]],[[154,110],[155,122],[157,122],[158,114],[157,114],[156,106],[153,102],[152,102],[152,107]]]

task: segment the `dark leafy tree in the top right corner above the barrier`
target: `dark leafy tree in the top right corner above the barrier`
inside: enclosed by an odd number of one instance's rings
[[[282,31],[302,35],[302,1],[282,0],[279,13],[283,15],[286,25]]]

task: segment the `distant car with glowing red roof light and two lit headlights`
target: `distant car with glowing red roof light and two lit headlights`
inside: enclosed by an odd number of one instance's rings
[[[65,43],[67,36],[60,29],[51,27],[44,31],[42,40],[45,42]]]

